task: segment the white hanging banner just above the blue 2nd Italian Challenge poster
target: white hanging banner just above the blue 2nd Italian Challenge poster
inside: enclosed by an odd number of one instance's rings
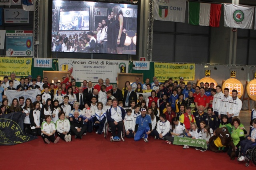
[[[28,11],[4,9],[4,23],[29,23]]]

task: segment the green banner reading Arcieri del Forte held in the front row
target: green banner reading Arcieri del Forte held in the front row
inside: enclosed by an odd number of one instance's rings
[[[188,137],[177,137],[174,136],[174,145],[188,145],[191,147],[201,147],[203,149],[207,149],[206,140],[203,139],[192,139]]]

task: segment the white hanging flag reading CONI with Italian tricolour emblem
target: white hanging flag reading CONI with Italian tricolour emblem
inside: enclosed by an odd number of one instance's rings
[[[186,0],[154,0],[154,20],[185,22]]]

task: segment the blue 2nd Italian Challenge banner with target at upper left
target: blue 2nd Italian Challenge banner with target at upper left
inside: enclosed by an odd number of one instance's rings
[[[6,55],[33,56],[33,31],[6,30]]]

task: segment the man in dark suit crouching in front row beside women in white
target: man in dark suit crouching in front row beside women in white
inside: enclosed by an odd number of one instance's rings
[[[78,111],[74,111],[74,118],[70,121],[70,131],[72,134],[75,134],[75,139],[80,138],[82,139],[83,134],[86,133],[87,126],[84,125],[82,118],[78,118],[79,113]]]

